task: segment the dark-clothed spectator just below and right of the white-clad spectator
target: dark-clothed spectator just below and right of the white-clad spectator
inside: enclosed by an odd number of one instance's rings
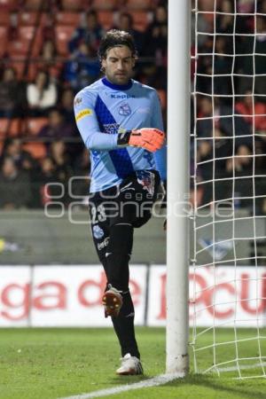
[[[48,124],[39,131],[38,137],[47,139],[64,139],[75,136],[72,125],[66,123],[63,114],[59,109],[51,109],[48,113]]]

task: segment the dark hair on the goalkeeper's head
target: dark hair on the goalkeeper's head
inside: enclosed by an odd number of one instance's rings
[[[132,57],[137,58],[137,49],[134,43],[132,35],[128,32],[118,29],[109,30],[106,35],[102,38],[99,48],[98,57],[100,60],[106,58],[106,51],[118,46],[128,46],[132,52]]]

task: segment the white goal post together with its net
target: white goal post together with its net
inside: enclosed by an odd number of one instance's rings
[[[263,3],[168,1],[167,372],[179,376],[190,347],[193,372],[266,377]]]

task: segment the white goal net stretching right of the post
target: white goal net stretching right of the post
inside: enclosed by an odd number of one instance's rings
[[[192,4],[195,372],[266,376],[266,2]]]

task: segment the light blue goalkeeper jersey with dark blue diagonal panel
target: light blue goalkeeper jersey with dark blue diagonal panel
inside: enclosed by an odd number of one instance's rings
[[[166,147],[150,153],[142,148],[117,145],[119,129],[163,130],[156,90],[130,80],[116,85],[106,77],[85,87],[74,98],[77,127],[90,150],[90,192],[106,190],[134,171],[157,169],[166,179]]]

